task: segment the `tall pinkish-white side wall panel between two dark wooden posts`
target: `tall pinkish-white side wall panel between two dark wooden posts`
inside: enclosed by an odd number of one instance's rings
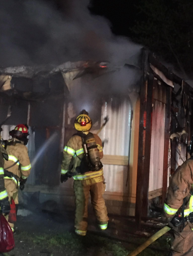
[[[155,100],[152,116],[149,191],[162,188],[165,104]]]

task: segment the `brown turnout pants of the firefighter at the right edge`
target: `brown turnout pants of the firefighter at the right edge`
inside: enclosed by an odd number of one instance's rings
[[[185,223],[185,228],[182,232],[175,232],[175,239],[171,248],[173,250],[172,256],[193,255],[193,231],[187,223]]]

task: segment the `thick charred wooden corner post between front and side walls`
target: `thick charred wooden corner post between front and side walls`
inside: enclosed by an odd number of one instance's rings
[[[144,76],[145,78],[145,76]],[[135,204],[135,220],[140,228],[141,218],[147,216],[149,167],[151,152],[152,103],[153,103],[153,74],[144,79],[140,92],[140,118],[139,118],[139,149],[137,168],[137,189]]]

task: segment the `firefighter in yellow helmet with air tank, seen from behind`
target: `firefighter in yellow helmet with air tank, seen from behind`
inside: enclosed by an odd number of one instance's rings
[[[85,236],[89,194],[100,229],[105,230],[108,225],[107,208],[103,199],[103,165],[100,162],[103,147],[99,136],[89,132],[92,121],[85,110],[76,118],[74,127],[78,133],[70,138],[64,148],[61,182],[66,181],[68,177],[74,178],[75,232]]]

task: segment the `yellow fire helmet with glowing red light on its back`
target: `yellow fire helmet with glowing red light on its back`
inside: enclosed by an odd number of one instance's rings
[[[92,127],[92,120],[88,116],[88,113],[83,110],[80,112],[80,115],[74,121],[74,127],[77,131],[87,132]]]

